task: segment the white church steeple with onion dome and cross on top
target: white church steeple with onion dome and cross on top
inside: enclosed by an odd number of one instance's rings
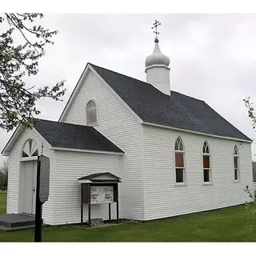
[[[153,53],[146,57],[146,82],[162,91],[163,94],[170,95],[170,58],[162,54],[158,46],[158,26],[161,23],[155,20],[153,25],[152,29],[155,29],[154,34],[156,35],[154,38],[155,46]]]

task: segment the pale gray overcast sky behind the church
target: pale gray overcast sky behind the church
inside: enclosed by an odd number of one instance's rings
[[[87,62],[146,80],[154,50],[150,30],[160,20],[159,46],[170,57],[171,90],[204,100],[250,138],[256,138],[242,99],[256,104],[256,14],[46,14],[59,33],[39,61],[30,85],[66,79],[63,102],[42,99],[41,118],[58,120]],[[12,133],[0,130],[0,150]],[[256,146],[252,146],[256,160]],[[0,157],[0,165],[4,158]]]

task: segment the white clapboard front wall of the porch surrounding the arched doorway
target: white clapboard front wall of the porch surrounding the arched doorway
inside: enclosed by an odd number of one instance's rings
[[[18,191],[19,191],[19,167],[22,154],[22,147],[26,140],[34,139],[41,153],[42,142],[44,145],[43,154],[50,158],[50,197],[42,206],[42,218],[44,223],[53,224],[53,150],[50,150],[50,145],[43,139],[35,130],[26,129],[22,132],[17,142],[10,150],[9,155],[9,171],[8,171],[8,190],[7,190],[7,214],[18,214]]]

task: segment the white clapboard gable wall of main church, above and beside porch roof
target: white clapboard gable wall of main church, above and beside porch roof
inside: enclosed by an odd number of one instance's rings
[[[90,99],[94,99],[98,106],[99,125],[95,129],[125,152],[121,177],[122,216],[143,220],[142,126],[125,104],[118,100],[112,89],[91,71],[64,122],[86,125],[86,103]]]

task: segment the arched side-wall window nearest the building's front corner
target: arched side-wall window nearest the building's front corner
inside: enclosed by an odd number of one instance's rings
[[[176,183],[185,183],[184,146],[182,138],[178,137],[175,142],[175,177]]]

